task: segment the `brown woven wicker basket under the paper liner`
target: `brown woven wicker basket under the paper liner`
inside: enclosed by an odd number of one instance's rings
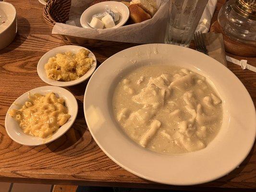
[[[69,10],[71,7],[71,0],[49,0],[43,10],[43,17],[50,27],[53,27],[56,22],[65,24],[69,19]],[[75,36],[60,35],[66,44],[71,45],[85,45],[87,47],[102,47],[121,45],[122,42],[105,41],[98,39],[89,39]]]

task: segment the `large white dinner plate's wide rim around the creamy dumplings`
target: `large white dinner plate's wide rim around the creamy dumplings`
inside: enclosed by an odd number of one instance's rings
[[[144,64],[178,65],[214,84],[223,102],[223,123],[206,148],[159,154],[134,143],[118,126],[111,106],[113,90],[122,75]],[[115,163],[144,179],[172,185],[200,184],[228,174],[249,154],[256,135],[255,107],[241,81],[217,60],[167,44],[128,48],[105,60],[87,84],[84,112],[94,140]]]

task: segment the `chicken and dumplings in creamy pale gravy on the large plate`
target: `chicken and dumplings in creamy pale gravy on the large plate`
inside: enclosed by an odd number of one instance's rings
[[[221,100],[204,76],[167,65],[128,73],[115,88],[112,106],[134,142],[166,154],[205,148],[223,116]]]

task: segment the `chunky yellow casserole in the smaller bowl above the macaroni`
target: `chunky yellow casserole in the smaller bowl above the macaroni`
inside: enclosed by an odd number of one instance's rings
[[[93,58],[82,48],[78,53],[58,53],[45,64],[47,77],[56,81],[73,81],[82,77],[92,66]]]

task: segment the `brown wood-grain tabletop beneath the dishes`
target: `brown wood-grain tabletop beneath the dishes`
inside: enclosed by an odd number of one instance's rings
[[[38,147],[23,146],[12,141],[4,128],[8,108],[23,93],[47,85],[37,75],[37,62],[47,51],[64,43],[59,36],[51,35],[50,27],[43,20],[43,5],[38,0],[6,1],[11,2],[17,10],[18,34],[9,47],[0,50],[0,181],[198,191],[215,191],[217,188],[247,188],[251,191],[256,188],[255,147],[240,167],[229,175],[190,187],[161,185],[122,169],[100,150],[87,129],[83,112],[87,82],[67,88],[76,97],[79,111],[73,127],[60,139]],[[219,1],[213,21],[220,6]],[[100,64],[111,55],[132,46],[124,44],[90,49]],[[249,64],[256,66],[256,58],[228,55],[239,60],[246,59]],[[243,82],[256,104],[256,73],[243,71],[232,63],[228,63],[228,68]]]

